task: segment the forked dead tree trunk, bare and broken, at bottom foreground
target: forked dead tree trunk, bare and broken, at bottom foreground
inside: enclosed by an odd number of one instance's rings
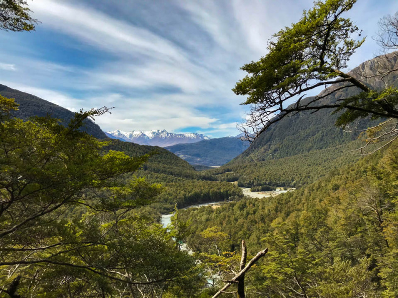
[[[268,248],[259,251],[256,256],[249,261],[249,263],[246,264],[246,258],[247,258],[247,249],[246,249],[246,244],[245,240],[242,240],[242,257],[240,259],[240,272],[235,275],[233,279],[230,281],[227,281],[226,285],[219,290],[212,298],[218,297],[221,293],[225,293],[225,290],[228,289],[232,284],[238,284],[238,298],[245,298],[245,286],[244,286],[244,281],[245,281],[245,273],[249,271],[249,269],[263,256],[265,256],[268,252]]]

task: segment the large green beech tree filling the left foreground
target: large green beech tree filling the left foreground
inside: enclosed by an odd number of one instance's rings
[[[23,122],[15,109],[0,96],[1,297],[195,291],[195,260],[134,212],[161,191],[128,178],[149,155],[104,150],[108,142],[79,130],[106,109],[76,113],[67,127],[52,118]]]

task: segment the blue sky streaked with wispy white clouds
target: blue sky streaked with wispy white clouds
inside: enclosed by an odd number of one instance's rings
[[[312,0],[33,0],[34,32],[0,31],[0,83],[120,129],[237,135],[245,98],[231,89],[245,63]],[[365,44],[349,69],[375,57],[378,20],[398,0],[358,0],[346,16]],[[314,95],[314,94],[308,94]]]

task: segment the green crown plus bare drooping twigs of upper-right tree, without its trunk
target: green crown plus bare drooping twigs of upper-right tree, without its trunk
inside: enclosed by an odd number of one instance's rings
[[[350,19],[342,17],[355,2],[315,1],[313,8],[304,10],[297,23],[274,34],[275,41],[269,43],[267,55],[241,68],[248,75],[233,91],[248,95],[243,104],[251,105],[250,117],[243,126],[246,138],[255,140],[273,123],[290,114],[340,107],[338,102],[321,103],[322,98],[338,90],[355,87],[370,91],[366,84],[341,71],[365,41],[351,37],[353,33],[360,35],[359,29]],[[338,79],[332,80],[336,77]],[[343,85],[333,88],[336,84]],[[316,96],[306,103],[301,101],[305,92],[329,85],[333,87],[327,89],[328,94]],[[294,104],[288,106],[292,100]],[[345,108],[363,110],[356,105],[345,105]],[[385,112],[387,116],[389,113]]]

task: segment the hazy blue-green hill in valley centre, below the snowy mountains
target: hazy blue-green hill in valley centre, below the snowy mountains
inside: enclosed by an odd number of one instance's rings
[[[194,144],[178,144],[166,149],[192,164],[223,165],[249,147],[237,138],[203,140]]]

